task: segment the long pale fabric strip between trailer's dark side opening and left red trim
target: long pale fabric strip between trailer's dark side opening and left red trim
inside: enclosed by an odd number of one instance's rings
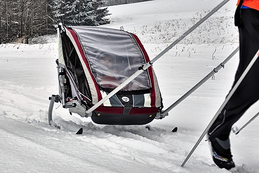
[[[97,92],[96,92],[94,81],[92,80],[90,72],[88,71],[88,69],[86,67],[86,64],[85,64],[85,62],[84,62],[84,60],[83,60],[83,58],[82,58],[82,56],[81,56],[81,54],[79,52],[79,49],[78,49],[78,47],[76,45],[76,42],[75,42],[73,36],[71,35],[70,31],[67,30],[67,28],[65,28],[65,29],[66,29],[66,34],[70,38],[70,40],[72,41],[72,43],[73,43],[73,45],[74,45],[74,47],[76,49],[76,52],[77,52],[77,54],[79,56],[79,59],[81,61],[81,64],[83,66],[83,69],[84,69],[84,72],[86,74],[86,78],[87,78],[87,81],[88,81],[88,84],[89,84],[89,87],[90,87],[90,91],[91,91],[91,94],[92,94],[92,99],[93,99],[92,103],[95,105],[96,103],[98,103],[98,95],[97,95]]]

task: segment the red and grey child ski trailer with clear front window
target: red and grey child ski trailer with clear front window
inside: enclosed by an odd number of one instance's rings
[[[58,52],[59,95],[50,98],[50,125],[54,102],[97,124],[143,125],[160,118],[162,98],[152,67],[86,112],[149,62],[136,35],[104,27],[59,25]]]

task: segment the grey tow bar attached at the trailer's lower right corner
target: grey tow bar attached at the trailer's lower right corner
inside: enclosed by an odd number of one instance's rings
[[[174,102],[170,107],[164,110],[161,113],[161,116],[166,115],[170,110],[172,110],[175,106],[181,103],[186,97],[192,94],[197,88],[199,88],[202,84],[204,84],[211,76],[217,73],[224,65],[239,51],[239,47],[237,47],[221,64],[219,64],[216,68],[214,68],[207,76],[205,76],[199,83],[197,83],[192,89],[190,89],[187,93],[185,93],[181,98],[179,98],[176,102]]]

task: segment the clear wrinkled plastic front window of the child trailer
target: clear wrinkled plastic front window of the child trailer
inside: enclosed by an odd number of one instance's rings
[[[73,27],[79,35],[97,82],[102,87],[114,89],[146,62],[140,48],[129,33],[100,27],[100,30],[96,30],[96,28]],[[150,88],[149,77],[144,71],[123,90],[148,88]]]

